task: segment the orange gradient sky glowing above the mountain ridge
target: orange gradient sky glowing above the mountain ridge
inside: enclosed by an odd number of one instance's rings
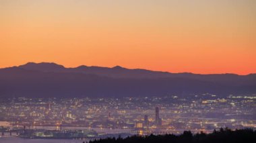
[[[256,73],[255,0],[0,0],[0,68]]]

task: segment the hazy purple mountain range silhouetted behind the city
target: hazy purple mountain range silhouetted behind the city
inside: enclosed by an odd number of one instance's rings
[[[0,97],[134,97],[256,93],[256,74],[167,73],[145,69],[28,62],[0,68]]]

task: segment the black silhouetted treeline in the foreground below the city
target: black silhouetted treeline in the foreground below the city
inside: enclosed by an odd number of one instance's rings
[[[166,134],[150,136],[131,136],[127,138],[106,138],[92,140],[89,143],[221,143],[221,142],[256,142],[256,130],[230,130],[228,128],[205,134],[203,132],[192,134],[190,131],[185,131],[181,135]]]

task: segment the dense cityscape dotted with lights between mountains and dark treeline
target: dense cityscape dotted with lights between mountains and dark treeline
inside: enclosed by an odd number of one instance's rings
[[[77,129],[77,132],[92,131],[95,134],[87,134],[94,137],[107,134],[181,134],[184,130],[207,133],[226,127],[232,130],[255,129],[255,110],[256,95],[219,97],[205,93],[186,97],[19,97],[1,99],[0,121],[8,123],[1,127],[1,132],[67,132]]]

